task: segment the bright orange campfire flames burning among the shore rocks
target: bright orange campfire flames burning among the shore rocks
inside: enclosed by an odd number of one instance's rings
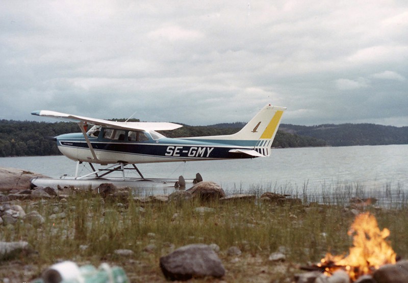
[[[318,266],[325,266],[326,274],[331,274],[339,268],[348,272],[355,280],[363,274],[370,274],[381,265],[394,264],[395,252],[385,240],[390,236],[390,230],[378,228],[377,220],[369,213],[358,215],[347,233],[353,236],[353,247],[349,254],[332,255],[327,253]]]

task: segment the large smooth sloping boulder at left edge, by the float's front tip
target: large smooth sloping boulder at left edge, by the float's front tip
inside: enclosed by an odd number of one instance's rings
[[[16,168],[0,167],[0,191],[22,191],[30,189],[31,179],[47,176]]]

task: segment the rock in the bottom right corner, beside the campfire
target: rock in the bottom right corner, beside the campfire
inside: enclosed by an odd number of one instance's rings
[[[408,261],[383,265],[373,273],[373,278],[378,283],[406,283],[408,282]]]

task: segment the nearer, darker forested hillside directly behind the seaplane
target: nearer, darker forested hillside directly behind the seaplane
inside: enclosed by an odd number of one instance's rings
[[[123,119],[120,119],[123,120]],[[135,119],[134,119],[135,120]],[[137,121],[137,120],[135,120]],[[174,131],[163,132],[167,137],[194,137],[210,135],[227,135],[239,131],[243,123],[213,126],[185,125]],[[66,133],[80,132],[79,127],[71,122],[34,122],[0,120],[0,157],[9,156],[45,156],[59,155],[56,142],[48,140]],[[323,140],[278,131],[273,147],[324,146]]]

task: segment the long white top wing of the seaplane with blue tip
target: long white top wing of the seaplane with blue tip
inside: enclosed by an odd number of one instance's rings
[[[168,122],[115,122],[103,119],[95,119],[71,114],[65,114],[55,111],[41,110],[31,112],[32,115],[60,118],[71,122],[87,122],[92,125],[104,127],[120,128],[122,130],[139,131],[170,131],[182,127],[182,125]]]

